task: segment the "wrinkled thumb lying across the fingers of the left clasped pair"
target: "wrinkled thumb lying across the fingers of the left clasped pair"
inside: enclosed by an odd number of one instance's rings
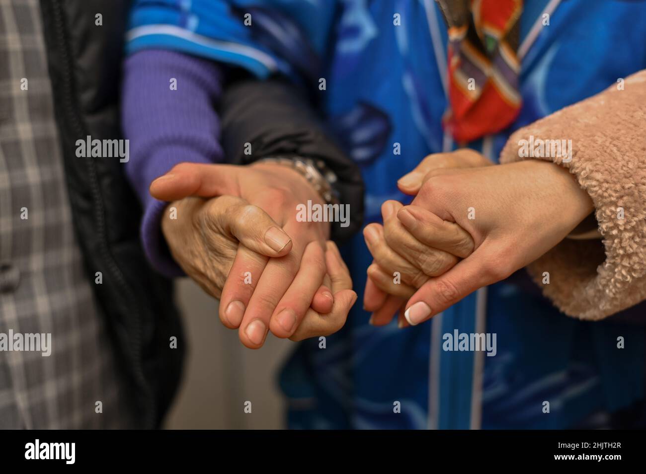
[[[248,249],[268,257],[291,251],[291,238],[267,212],[236,196],[220,196],[205,205],[207,227],[236,238]]]

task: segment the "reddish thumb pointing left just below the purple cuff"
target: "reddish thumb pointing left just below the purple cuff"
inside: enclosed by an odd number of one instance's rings
[[[152,181],[149,191],[160,201],[176,201],[187,196],[239,196],[239,172],[240,167],[233,165],[180,163]]]

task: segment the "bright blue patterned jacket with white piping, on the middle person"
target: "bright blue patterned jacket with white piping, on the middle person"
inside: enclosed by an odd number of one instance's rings
[[[432,0],[136,0],[128,35],[130,53],[171,48],[317,91],[362,167],[366,223],[384,200],[406,201],[397,178],[455,149],[441,126],[447,35]],[[645,38],[644,1],[526,0],[521,113],[469,146],[497,160],[514,130],[646,68]],[[362,236],[343,253],[361,293]],[[495,333],[496,355],[443,351],[455,329]],[[568,318],[519,273],[405,330],[371,327],[357,305],[325,349],[302,343],[280,382],[293,428],[566,428],[643,398],[645,336],[613,318]]]

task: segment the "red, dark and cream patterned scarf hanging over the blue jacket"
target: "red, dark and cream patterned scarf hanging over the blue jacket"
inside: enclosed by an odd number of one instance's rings
[[[523,0],[437,0],[448,26],[444,127],[459,142],[510,125],[521,107],[516,56]]]

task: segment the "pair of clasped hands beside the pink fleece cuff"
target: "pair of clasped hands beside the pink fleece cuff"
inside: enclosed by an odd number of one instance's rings
[[[371,322],[419,324],[507,278],[561,242],[594,206],[567,169],[530,160],[491,166],[473,150],[426,157],[398,182],[411,205],[386,201],[364,229],[375,259]],[[403,313],[403,315],[402,315]]]

